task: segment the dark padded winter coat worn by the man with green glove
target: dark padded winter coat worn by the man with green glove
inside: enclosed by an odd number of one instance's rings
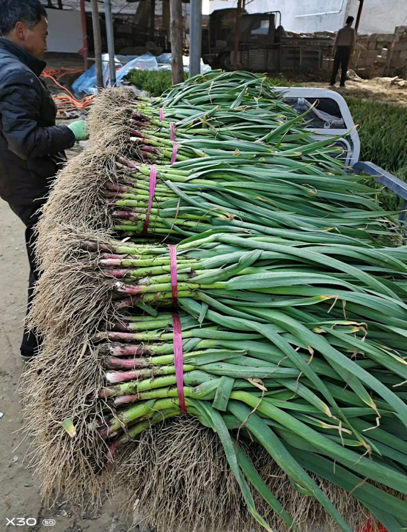
[[[26,225],[75,142],[68,126],[55,126],[56,106],[39,78],[45,65],[0,37],[0,197]]]

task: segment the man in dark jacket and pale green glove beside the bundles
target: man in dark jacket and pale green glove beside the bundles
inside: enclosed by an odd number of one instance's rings
[[[56,106],[39,78],[46,63],[46,11],[39,0],[0,0],[0,197],[26,226],[30,263],[28,305],[38,278],[33,227],[64,149],[87,138],[86,122],[56,126]],[[21,356],[36,354],[38,339],[24,329]]]

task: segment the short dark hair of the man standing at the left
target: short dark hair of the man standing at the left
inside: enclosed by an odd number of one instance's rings
[[[47,16],[39,0],[0,0],[0,35],[7,35],[17,22],[24,22],[32,29]]]

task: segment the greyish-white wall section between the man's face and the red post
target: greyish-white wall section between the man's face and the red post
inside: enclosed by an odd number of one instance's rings
[[[77,53],[83,46],[79,11],[47,9],[48,52]]]

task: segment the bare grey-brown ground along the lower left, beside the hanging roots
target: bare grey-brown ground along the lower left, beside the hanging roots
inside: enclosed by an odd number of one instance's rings
[[[65,122],[66,123],[66,122]],[[80,146],[76,144],[69,157]],[[24,243],[24,226],[0,200],[0,530],[13,530],[7,519],[31,518],[21,530],[53,530],[54,532],[126,532],[130,529],[118,517],[117,506],[105,504],[104,513],[94,519],[89,514],[80,518],[67,501],[61,499],[48,509],[39,495],[39,480],[27,469],[27,442],[21,442],[21,397],[18,388],[23,363],[19,347],[22,319],[25,314],[28,287],[28,260]],[[19,445],[20,444],[20,445]],[[44,519],[55,520],[44,526]],[[36,526],[32,526],[34,520]],[[14,524],[22,522],[17,519]]]

